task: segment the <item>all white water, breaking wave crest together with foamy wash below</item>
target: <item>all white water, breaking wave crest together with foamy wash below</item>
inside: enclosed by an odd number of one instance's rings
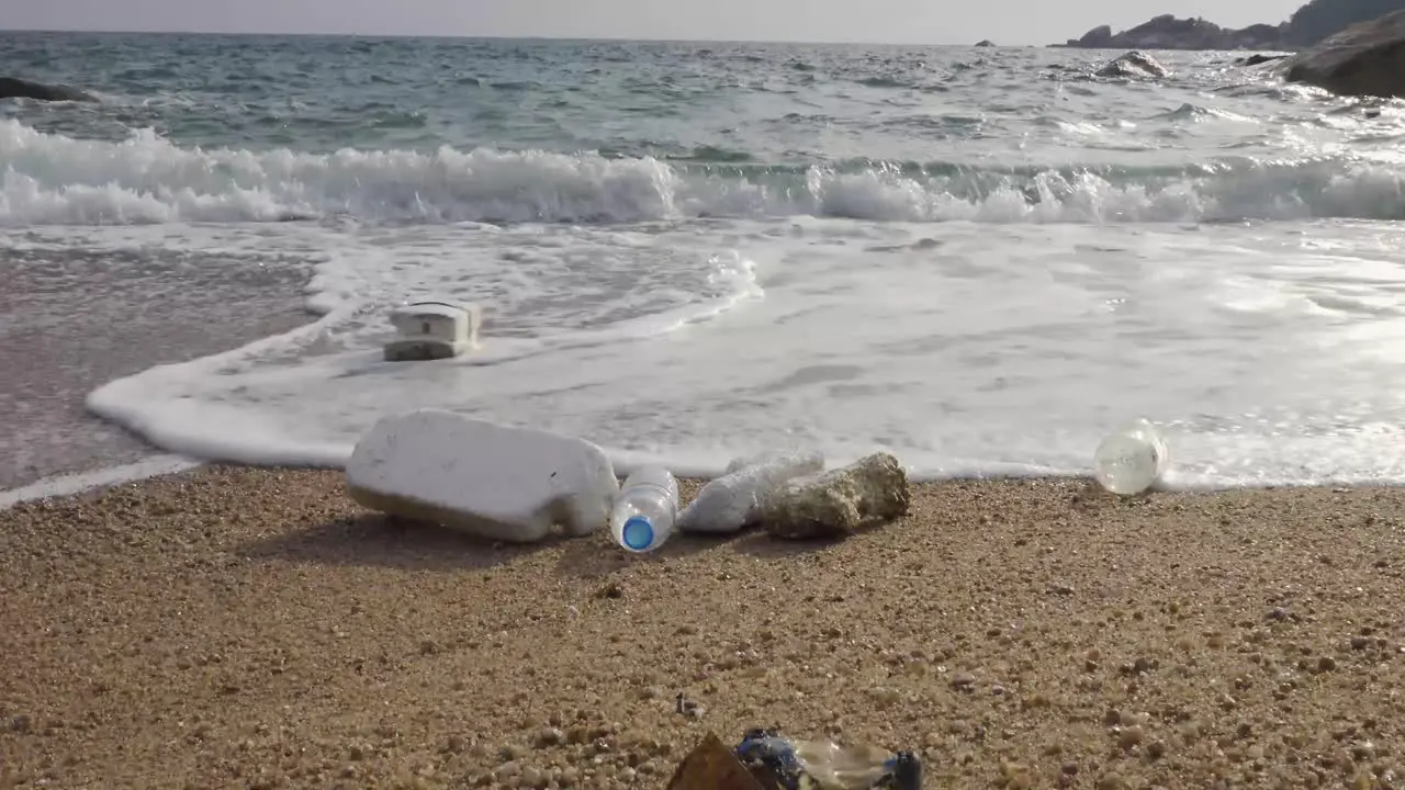
[[[308,326],[89,396],[176,453],[336,467],[381,415],[438,406],[590,439],[621,471],[798,447],[1080,474],[1141,415],[1173,486],[1405,481],[1405,232],[1312,219],[1401,214],[1390,162],[972,193],[881,166],[197,150],[0,122],[0,224],[27,229],[0,252],[312,268]],[[1235,216],[1280,221],[1197,222]],[[386,309],[423,294],[482,304],[482,349],[382,361]]]

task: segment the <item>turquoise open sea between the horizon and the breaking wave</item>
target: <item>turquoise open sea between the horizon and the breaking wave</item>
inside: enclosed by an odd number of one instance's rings
[[[1169,186],[1215,163],[1392,142],[1333,121],[1350,103],[1234,67],[1232,53],[1163,53],[1173,79],[1142,84],[1089,76],[1114,53],[1035,48],[111,34],[0,45],[7,73],[107,100],[6,108],[35,129],[114,142],[150,129],[251,152],[597,152],[724,177],[881,166],[964,174],[979,191],[1083,170]]]

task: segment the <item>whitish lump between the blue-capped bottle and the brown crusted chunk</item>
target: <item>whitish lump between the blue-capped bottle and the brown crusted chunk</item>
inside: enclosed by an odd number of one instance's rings
[[[735,533],[756,523],[762,500],[785,482],[819,474],[825,455],[780,453],[732,461],[726,474],[702,486],[697,499],[679,514],[687,533]]]

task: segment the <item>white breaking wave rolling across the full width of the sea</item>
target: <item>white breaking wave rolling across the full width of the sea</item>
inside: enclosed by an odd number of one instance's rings
[[[1350,155],[1180,167],[666,162],[596,152],[177,146],[0,122],[0,226],[280,222],[1405,219],[1405,167]]]

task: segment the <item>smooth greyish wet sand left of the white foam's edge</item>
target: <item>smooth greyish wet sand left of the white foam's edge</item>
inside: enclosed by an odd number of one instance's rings
[[[301,267],[160,249],[0,252],[0,491],[157,453],[83,401],[152,365],[236,349],[312,320]]]

